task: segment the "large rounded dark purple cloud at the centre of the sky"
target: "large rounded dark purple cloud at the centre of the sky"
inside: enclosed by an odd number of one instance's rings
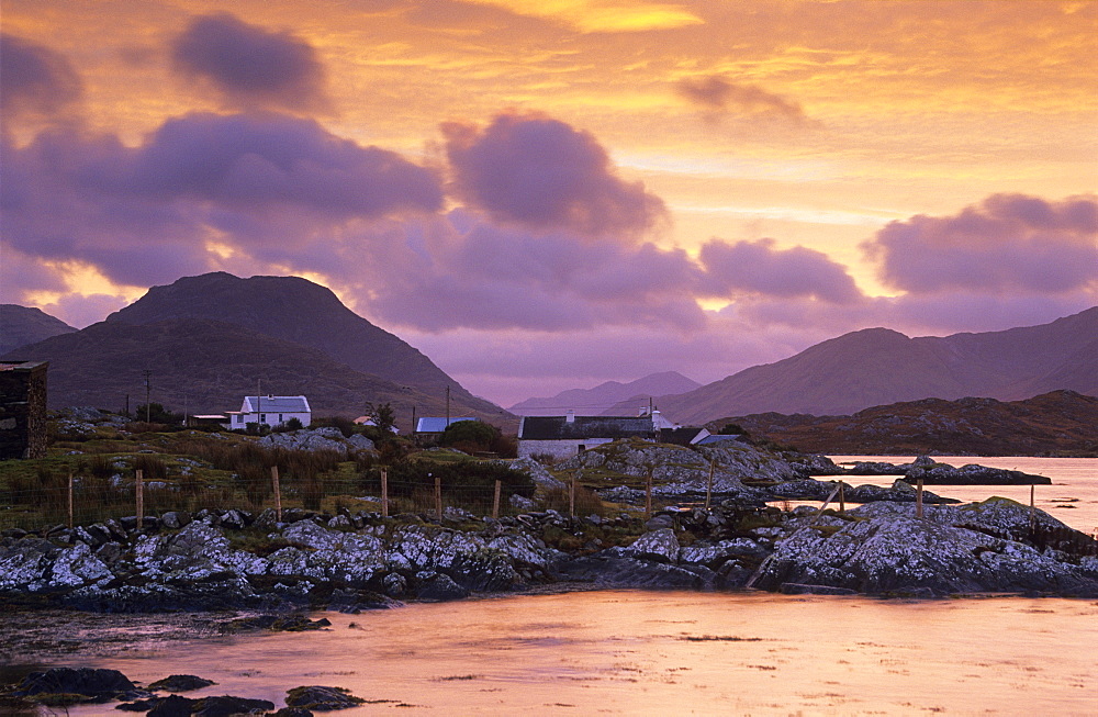
[[[631,235],[664,216],[662,200],[615,173],[589,133],[538,114],[485,130],[442,125],[458,195],[500,222],[589,236]]]

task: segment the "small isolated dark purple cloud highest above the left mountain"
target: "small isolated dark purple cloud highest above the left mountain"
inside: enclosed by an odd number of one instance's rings
[[[315,112],[328,109],[316,51],[289,32],[232,14],[194,18],[171,46],[175,69],[214,90],[234,109]]]

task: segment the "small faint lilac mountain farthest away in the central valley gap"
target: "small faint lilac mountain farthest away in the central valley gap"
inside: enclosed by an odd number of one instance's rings
[[[664,371],[629,383],[607,381],[593,389],[569,389],[550,397],[527,399],[511,406],[508,411],[520,416],[559,416],[571,408],[580,414],[598,415],[614,404],[628,401],[636,405],[631,405],[627,413],[620,415],[631,415],[641,403],[647,405],[651,396],[685,393],[701,385],[682,373]]]

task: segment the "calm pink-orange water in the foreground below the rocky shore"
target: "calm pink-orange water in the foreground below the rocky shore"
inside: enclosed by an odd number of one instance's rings
[[[1098,714],[1095,601],[604,591],[324,615],[322,632],[48,661],[220,683],[191,695],[389,701],[346,715]]]

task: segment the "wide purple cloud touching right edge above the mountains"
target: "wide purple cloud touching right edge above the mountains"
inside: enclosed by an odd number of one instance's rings
[[[1098,287],[1098,201],[995,194],[953,216],[892,222],[864,243],[911,293],[1057,293]]]

